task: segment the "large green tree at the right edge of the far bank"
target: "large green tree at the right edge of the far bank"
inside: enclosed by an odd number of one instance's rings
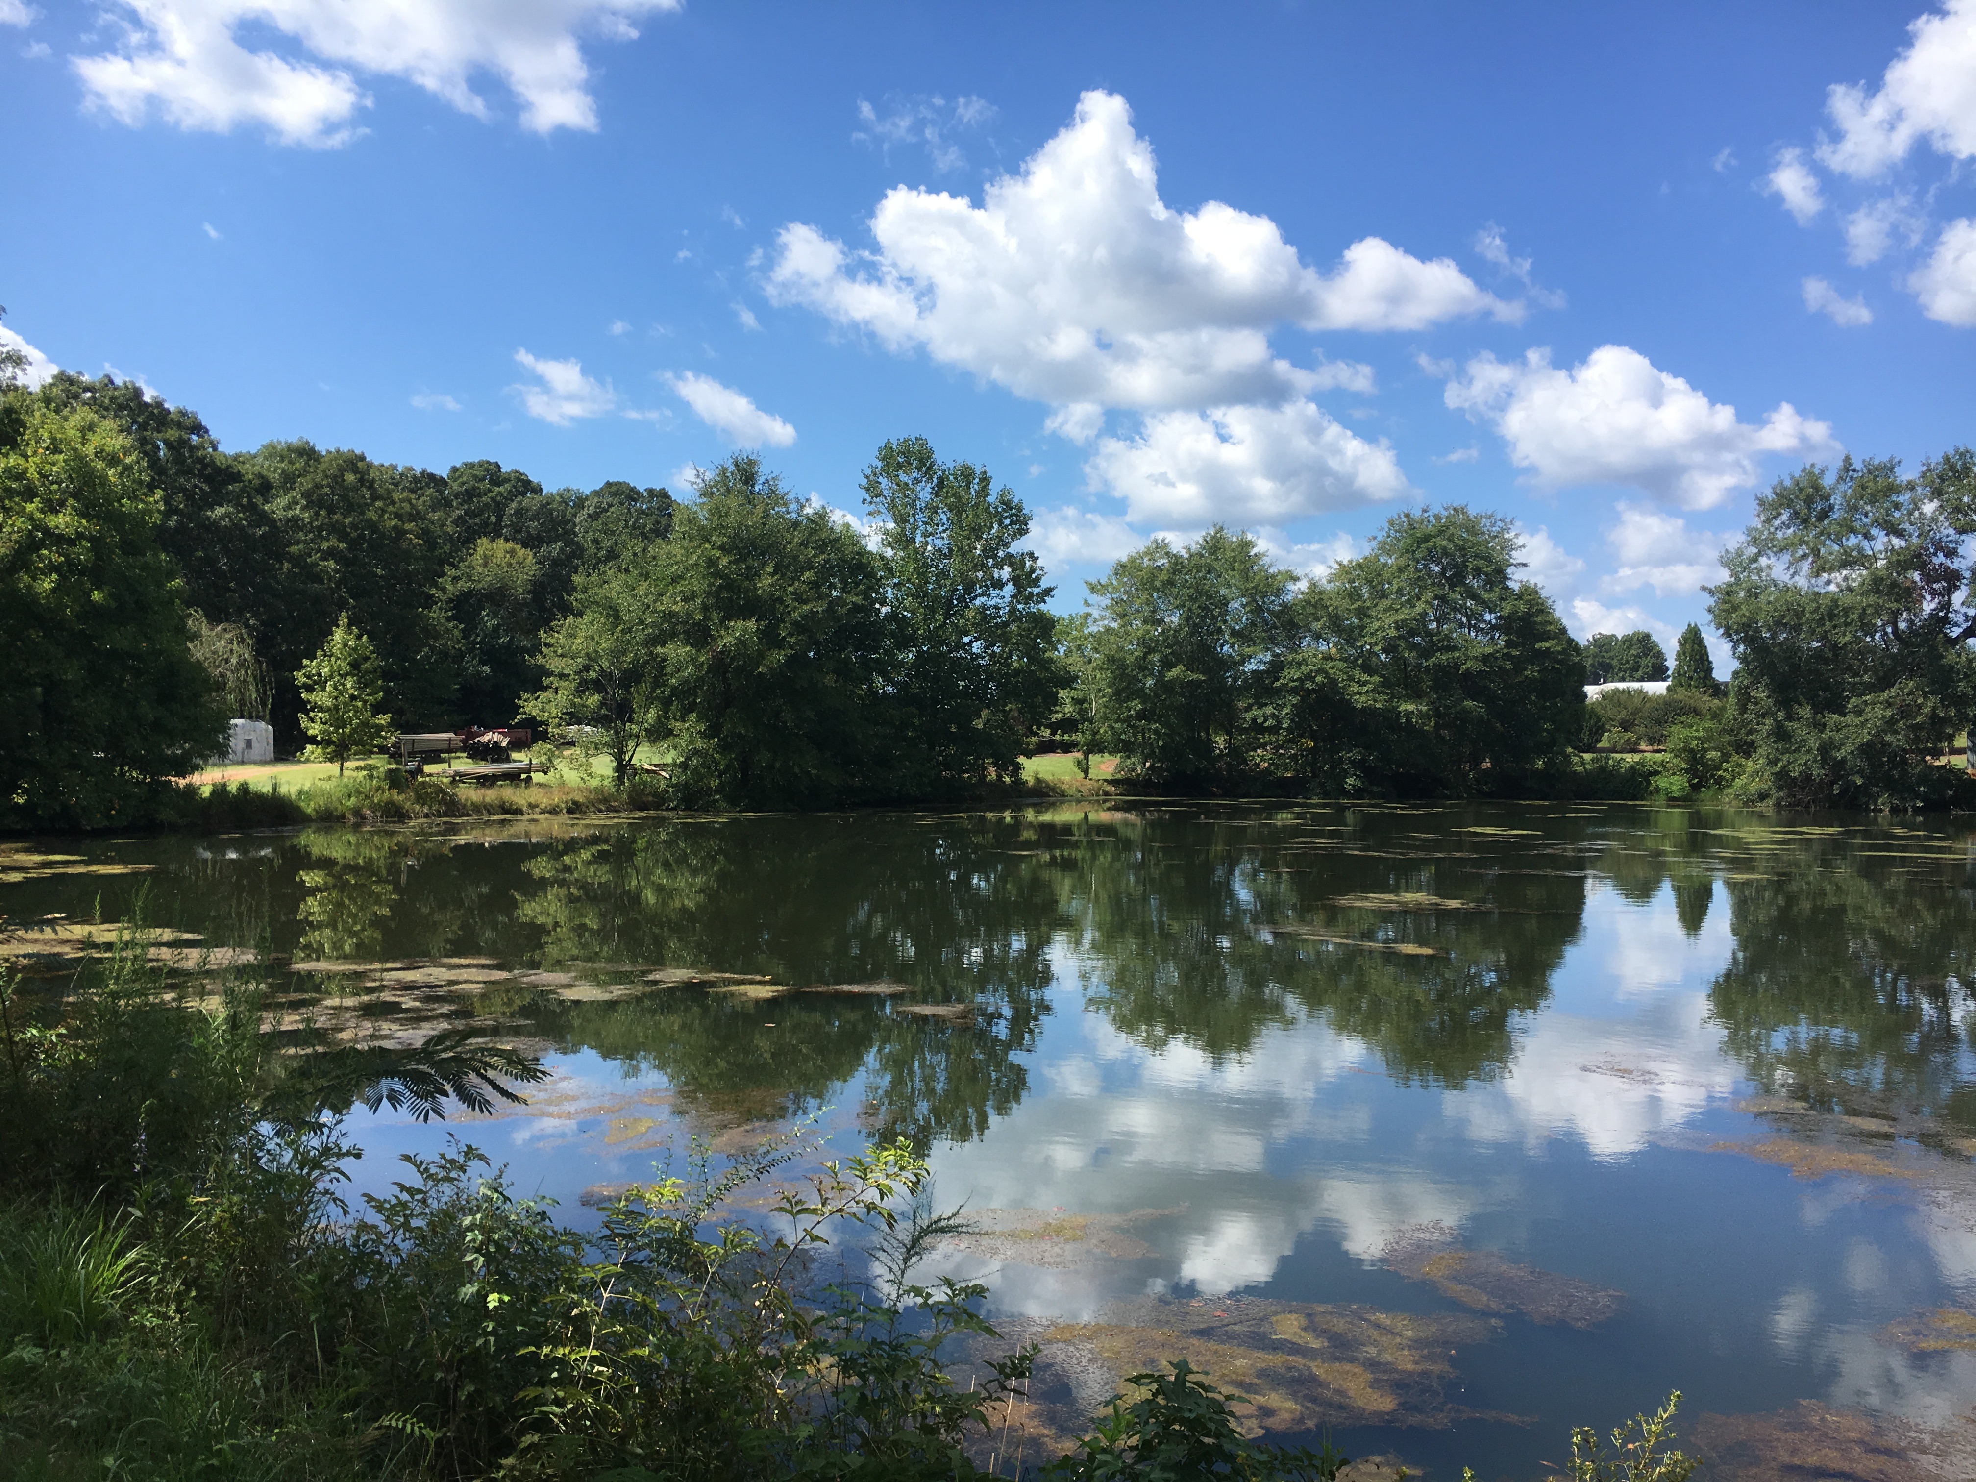
[[[1737,656],[1749,782],[1792,806],[1938,800],[1933,759],[1976,713],[1966,541],[1976,454],[1806,466],[1757,502],[1709,615]]]

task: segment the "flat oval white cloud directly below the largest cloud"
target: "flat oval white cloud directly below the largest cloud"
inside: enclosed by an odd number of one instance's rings
[[[1107,437],[1091,478],[1132,520],[1186,528],[1284,524],[1407,492],[1385,443],[1367,443],[1308,401],[1156,411],[1138,437]]]

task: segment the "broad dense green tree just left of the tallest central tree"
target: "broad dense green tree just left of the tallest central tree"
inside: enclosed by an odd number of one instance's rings
[[[696,492],[672,537],[638,557],[680,798],[802,806],[867,792],[883,761],[877,557],[753,454]]]

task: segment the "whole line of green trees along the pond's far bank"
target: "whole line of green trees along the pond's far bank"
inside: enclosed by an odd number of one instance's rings
[[[1778,480],[1709,589],[1735,676],[1689,624],[1686,700],[1658,709],[1587,709],[1583,684],[1668,678],[1666,654],[1573,640],[1496,514],[1401,512],[1310,581],[1239,532],[1154,539],[1053,617],[1029,512],[986,468],[907,437],[862,492],[864,530],[747,453],[680,500],[306,441],[225,453],[128,381],[10,383],[0,810],[134,820],[227,715],[292,739],[340,628],[391,725],[532,719],[620,782],[658,759],[682,806],[958,796],[1037,747],[1188,792],[1583,794],[1579,753],[1605,743],[1666,745],[1678,790],[1919,806],[1952,794],[1936,759],[1976,701],[1968,449],[1911,478],[1846,458]]]

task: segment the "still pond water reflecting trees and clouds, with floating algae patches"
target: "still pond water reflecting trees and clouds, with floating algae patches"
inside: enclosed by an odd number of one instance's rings
[[[585,1221],[682,1132],[915,1138],[978,1223],[935,1271],[1043,1344],[1037,1446],[1186,1354],[1429,1476],[1531,1476],[1676,1387],[1713,1476],[1976,1476],[1962,822],[1111,800],[40,848],[75,858],[0,856],[10,917],[142,889],[302,968],[292,1014],[334,990],[308,1033],[545,1057],[494,1118],[358,1114],[360,1190],[460,1134]]]

